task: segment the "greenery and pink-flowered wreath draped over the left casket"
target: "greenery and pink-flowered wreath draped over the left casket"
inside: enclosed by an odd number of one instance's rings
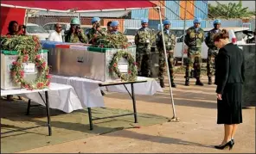
[[[11,77],[14,82],[26,89],[44,89],[50,84],[49,67],[41,58],[39,51],[42,50],[37,36],[1,36],[1,50],[16,51],[18,58],[12,63]],[[38,71],[35,83],[29,83],[24,79],[22,63],[34,63]]]

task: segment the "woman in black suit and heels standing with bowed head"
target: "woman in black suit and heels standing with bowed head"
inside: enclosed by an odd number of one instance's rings
[[[216,57],[215,84],[217,85],[217,124],[224,124],[225,136],[217,149],[234,145],[234,133],[242,123],[241,95],[245,81],[245,59],[243,51],[229,43],[226,29],[214,36],[214,44],[220,48]]]

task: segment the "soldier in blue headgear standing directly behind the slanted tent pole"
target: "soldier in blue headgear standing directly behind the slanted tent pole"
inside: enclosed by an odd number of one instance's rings
[[[164,44],[166,47],[166,53],[168,54],[168,65],[169,65],[169,71],[170,71],[170,82],[171,87],[176,88],[176,83],[174,83],[174,77],[173,77],[173,49],[176,45],[176,34],[173,31],[170,31],[170,21],[165,20],[163,21],[163,35],[164,35]],[[165,66],[165,59],[164,59],[164,51],[163,51],[163,40],[162,40],[162,31],[157,33],[157,49],[159,52],[159,74],[158,78],[160,80],[160,85],[163,88],[164,87],[164,66]]]

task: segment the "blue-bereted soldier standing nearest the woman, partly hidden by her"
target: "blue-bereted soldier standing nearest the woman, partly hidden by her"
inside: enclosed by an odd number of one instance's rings
[[[214,59],[218,54],[218,48],[214,45],[214,35],[221,32],[221,21],[214,21],[214,28],[208,32],[205,39],[205,44],[208,46],[208,58],[207,58],[207,75],[208,84],[212,84],[212,77],[214,76]]]

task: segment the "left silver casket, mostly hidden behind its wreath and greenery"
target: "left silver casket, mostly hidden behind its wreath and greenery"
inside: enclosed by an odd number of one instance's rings
[[[48,50],[41,50],[39,51],[42,59],[45,59],[45,61],[48,61]],[[12,68],[12,63],[16,61],[18,58],[18,52],[16,51],[1,51],[1,89],[20,89],[21,86],[16,84],[10,75],[10,69]],[[31,71],[31,66],[35,67],[35,65],[27,65],[25,68],[24,73],[24,79],[32,83],[35,81],[35,78],[37,77],[37,70]],[[26,69],[29,69],[27,72]]]

